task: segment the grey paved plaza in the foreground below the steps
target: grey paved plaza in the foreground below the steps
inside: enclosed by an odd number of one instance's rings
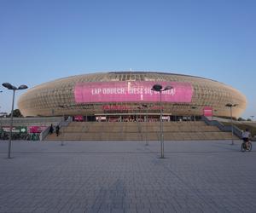
[[[0,141],[0,212],[256,212],[241,141]]]

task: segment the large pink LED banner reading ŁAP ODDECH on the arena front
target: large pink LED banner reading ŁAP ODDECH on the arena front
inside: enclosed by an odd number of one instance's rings
[[[183,82],[88,82],[77,83],[74,89],[77,103],[98,102],[158,102],[159,92],[151,90],[154,84],[165,88],[171,85],[172,89],[162,92],[163,102],[189,103],[193,89],[191,83]]]

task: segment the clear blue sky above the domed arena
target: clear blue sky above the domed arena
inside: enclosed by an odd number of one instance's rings
[[[254,0],[0,0],[1,84],[174,72],[233,86],[247,96],[242,117],[256,117],[255,11]],[[12,93],[0,89],[9,112]]]

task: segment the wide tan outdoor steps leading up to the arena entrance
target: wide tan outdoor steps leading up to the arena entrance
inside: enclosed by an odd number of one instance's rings
[[[230,132],[203,121],[163,122],[165,141],[230,140]],[[238,139],[235,135],[234,139]],[[72,122],[44,141],[157,141],[160,122]]]

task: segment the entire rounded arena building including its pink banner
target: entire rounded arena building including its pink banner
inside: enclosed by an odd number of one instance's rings
[[[160,92],[152,90],[160,84]],[[43,83],[20,96],[24,116],[73,116],[87,121],[177,120],[213,116],[238,118],[247,107],[240,91],[207,78],[165,72],[101,72]]]

